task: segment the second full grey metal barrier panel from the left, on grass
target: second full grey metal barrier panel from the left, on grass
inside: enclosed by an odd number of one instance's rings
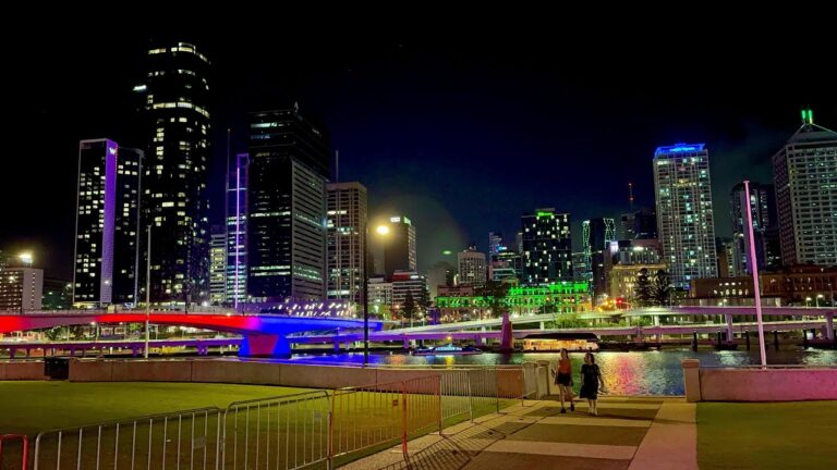
[[[328,460],[329,405],[325,391],[230,404],[221,468],[291,470]]]

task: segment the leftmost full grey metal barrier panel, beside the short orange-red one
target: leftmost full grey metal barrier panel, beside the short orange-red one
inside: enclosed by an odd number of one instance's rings
[[[41,432],[34,469],[211,470],[220,418],[211,407]]]

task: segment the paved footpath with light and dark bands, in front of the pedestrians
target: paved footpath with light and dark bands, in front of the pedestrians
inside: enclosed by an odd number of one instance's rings
[[[410,443],[413,469],[698,470],[695,406],[682,398],[604,397],[598,416],[586,401],[527,400],[475,423]],[[354,461],[349,470],[407,468],[400,448]]]

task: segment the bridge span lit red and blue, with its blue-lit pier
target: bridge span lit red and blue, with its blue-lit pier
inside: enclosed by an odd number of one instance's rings
[[[56,326],[111,323],[149,323],[191,326],[202,330],[238,333],[243,336],[241,356],[287,356],[291,345],[287,336],[312,331],[362,329],[363,320],[342,317],[293,317],[240,313],[182,313],[150,312],[105,313],[73,310],[56,313],[26,313],[0,316],[0,333],[43,330]],[[380,321],[369,320],[369,329],[381,329]]]

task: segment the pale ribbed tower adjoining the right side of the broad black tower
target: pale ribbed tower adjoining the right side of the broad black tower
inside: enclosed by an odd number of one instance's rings
[[[328,298],[364,305],[366,276],[366,186],[326,185],[328,210]]]

